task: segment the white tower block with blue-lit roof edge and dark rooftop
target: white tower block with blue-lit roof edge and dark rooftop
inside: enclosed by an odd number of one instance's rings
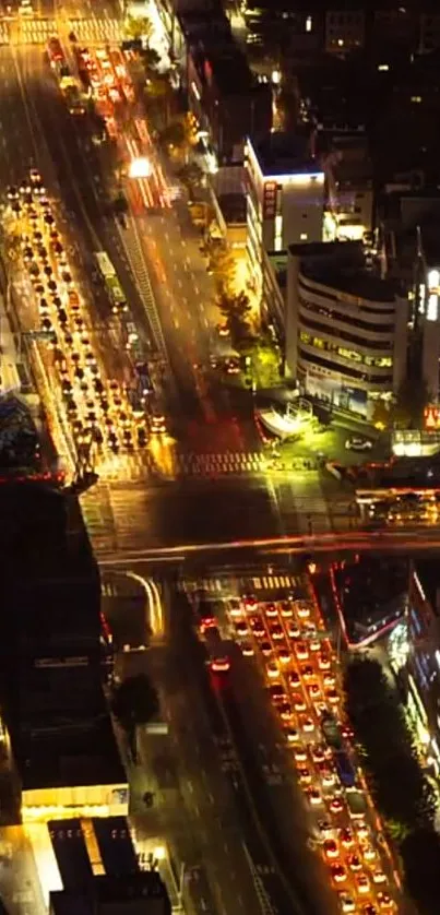
[[[307,138],[270,133],[246,144],[249,271],[264,295],[265,254],[322,240],[324,174]]]

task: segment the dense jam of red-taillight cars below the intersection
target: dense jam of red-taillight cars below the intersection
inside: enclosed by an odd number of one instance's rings
[[[336,657],[314,599],[301,586],[281,601],[230,598],[227,608],[242,655],[264,680],[309,810],[311,844],[341,912],[395,913],[399,877],[356,761]],[[199,604],[198,626],[211,670],[227,676],[230,659],[209,602]]]

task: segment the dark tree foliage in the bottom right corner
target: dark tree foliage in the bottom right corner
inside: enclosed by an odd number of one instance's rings
[[[420,915],[440,911],[440,836],[433,829],[412,832],[401,845],[407,892]]]

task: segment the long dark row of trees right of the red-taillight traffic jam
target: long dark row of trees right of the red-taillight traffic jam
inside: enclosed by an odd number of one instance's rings
[[[425,777],[402,706],[376,661],[357,659],[345,672],[346,712],[362,748],[371,793],[400,832],[429,827],[435,796]]]

